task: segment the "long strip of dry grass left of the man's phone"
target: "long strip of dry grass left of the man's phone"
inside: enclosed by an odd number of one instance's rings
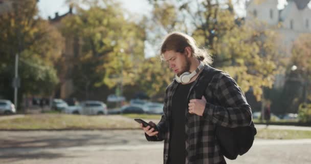
[[[62,129],[137,129],[130,119],[112,116],[85,116],[69,114],[34,114],[0,120],[1,130],[62,130]]]

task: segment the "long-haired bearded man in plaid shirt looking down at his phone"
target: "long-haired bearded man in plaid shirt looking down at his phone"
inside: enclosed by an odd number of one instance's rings
[[[251,124],[251,107],[242,91],[233,78],[219,72],[209,77],[210,83],[203,84],[206,94],[195,98],[197,85],[204,83],[206,73],[213,68],[207,52],[186,34],[168,34],[161,55],[176,76],[166,89],[159,124],[141,124],[147,140],[165,141],[165,164],[226,163],[214,130],[216,125],[235,128]]]

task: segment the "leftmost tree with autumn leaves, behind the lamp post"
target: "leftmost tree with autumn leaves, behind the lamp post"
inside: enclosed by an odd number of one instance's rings
[[[60,56],[62,38],[38,16],[36,3],[14,1],[12,8],[0,15],[0,76],[4,79],[0,92],[5,98],[13,99],[15,54],[20,58],[19,100],[23,94],[50,95],[58,81],[53,64]]]

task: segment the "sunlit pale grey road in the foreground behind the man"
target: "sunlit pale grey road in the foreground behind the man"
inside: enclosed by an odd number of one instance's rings
[[[252,149],[227,163],[311,163],[311,139],[256,139]],[[0,163],[162,163],[163,142],[141,130],[0,131]]]

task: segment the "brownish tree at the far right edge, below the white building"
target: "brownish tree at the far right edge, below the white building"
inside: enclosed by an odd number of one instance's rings
[[[310,34],[300,35],[294,42],[292,57],[287,67],[286,83],[283,89],[284,108],[289,113],[297,113],[302,103],[311,100],[311,43]]]

